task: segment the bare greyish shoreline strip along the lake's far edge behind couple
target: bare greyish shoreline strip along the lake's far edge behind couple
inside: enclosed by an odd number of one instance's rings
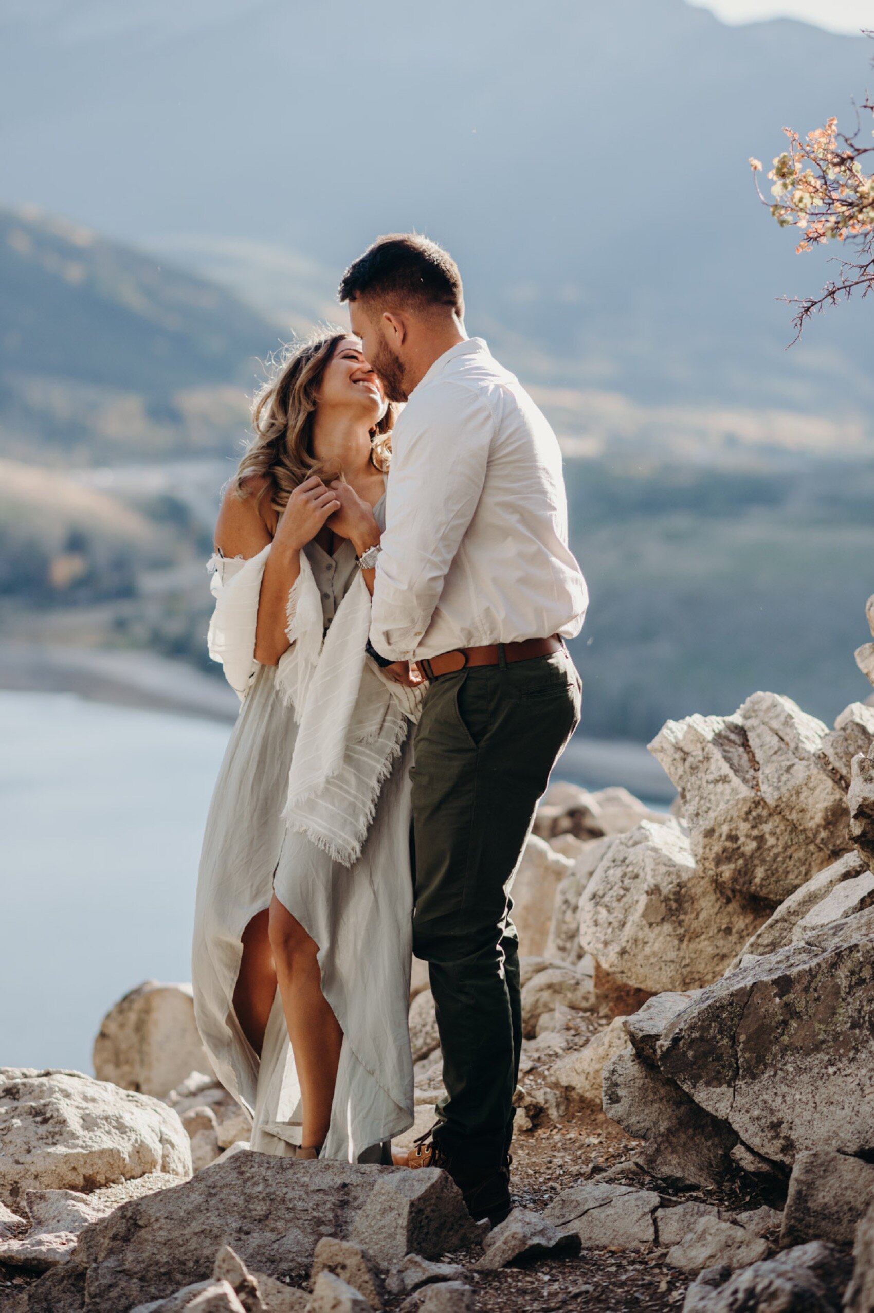
[[[224,680],[147,651],[0,642],[0,688],[76,693],[98,702],[177,712],[232,722],[239,701]],[[638,797],[671,802],[676,790],[642,743],[575,735],[556,776],[598,789],[625,785]]]

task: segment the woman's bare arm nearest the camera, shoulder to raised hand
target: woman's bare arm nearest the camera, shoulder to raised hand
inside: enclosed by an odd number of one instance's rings
[[[301,574],[301,549],[315,538],[340,503],[322,479],[315,475],[304,479],[289,498],[272,534],[261,516],[266,481],[260,482],[264,487],[255,486],[247,498],[240,499],[234,490],[224,495],[215,528],[215,546],[224,557],[248,558],[273,544],[259,596],[255,659],[262,666],[276,666],[290,646],[286,608],[289,593]]]

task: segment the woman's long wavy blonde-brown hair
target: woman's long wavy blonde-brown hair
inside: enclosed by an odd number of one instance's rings
[[[270,506],[285,511],[289,498],[311,474],[337,478],[336,469],[327,469],[312,452],[312,416],[318,404],[319,385],[339,343],[350,337],[345,328],[328,326],[286,347],[278,360],[270,361],[272,373],[252,406],[255,437],[238,467],[234,487],[238,496],[249,496],[252,481],[269,481]],[[378,470],[388,469],[391,428],[395,407],[371,429],[371,460]]]

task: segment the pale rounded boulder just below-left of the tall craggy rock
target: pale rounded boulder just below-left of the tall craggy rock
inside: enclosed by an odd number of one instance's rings
[[[761,914],[697,867],[676,821],[617,839],[580,899],[580,941],[613,977],[650,993],[720,976]]]

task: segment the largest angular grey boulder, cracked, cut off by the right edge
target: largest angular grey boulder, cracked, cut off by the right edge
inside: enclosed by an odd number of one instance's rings
[[[709,986],[668,1025],[659,1064],[772,1162],[860,1153],[874,1144],[873,1004],[869,909]]]

